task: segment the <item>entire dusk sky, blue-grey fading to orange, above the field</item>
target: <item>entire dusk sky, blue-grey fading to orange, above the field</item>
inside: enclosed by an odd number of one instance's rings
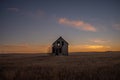
[[[119,0],[0,0],[0,53],[120,51]]]

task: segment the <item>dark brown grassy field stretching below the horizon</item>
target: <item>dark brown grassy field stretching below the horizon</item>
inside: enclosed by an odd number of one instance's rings
[[[0,80],[120,80],[120,52],[0,54]]]

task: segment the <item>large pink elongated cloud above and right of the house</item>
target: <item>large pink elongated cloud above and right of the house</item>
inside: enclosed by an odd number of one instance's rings
[[[60,18],[58,20],[59,24],[69,25],[77,29],[82,29],[85,31],[96,31],[96,28],[89,23],[80,20],[69,20],[67,18]]]

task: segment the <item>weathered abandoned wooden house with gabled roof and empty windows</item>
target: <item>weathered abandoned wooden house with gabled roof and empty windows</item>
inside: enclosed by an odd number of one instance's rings
[[[65,55],[68,56],[68,42],[65,41],[62,37],[59,37],[53,44],[52,44],[52,54],[53,55]]]

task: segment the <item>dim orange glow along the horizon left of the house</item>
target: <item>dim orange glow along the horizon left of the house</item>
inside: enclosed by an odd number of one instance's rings
[[[47,53],[48,45],[3,45],[0,53]]]

